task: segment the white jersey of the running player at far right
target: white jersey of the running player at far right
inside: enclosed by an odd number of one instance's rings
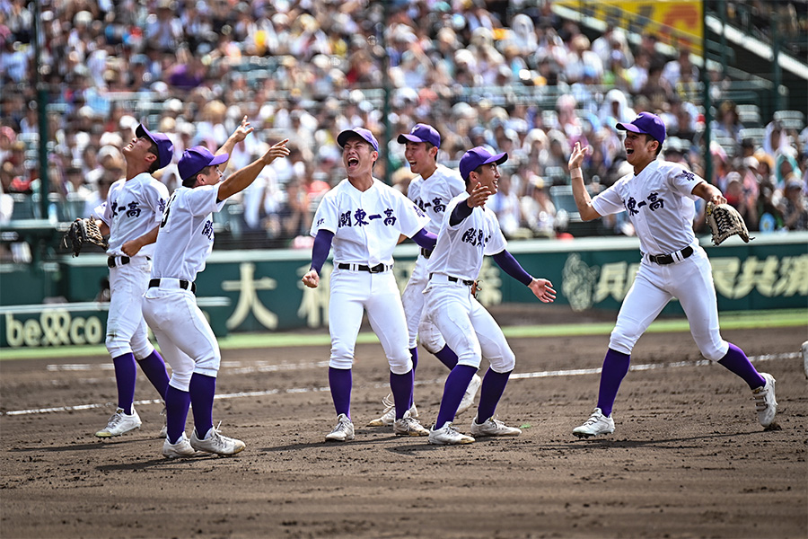
[[[656,160],[639,175],[628,174],[592,200],[599,214],[628,212],[640,248],[648,254],[669,254],[694,243],[693,214],[703,181],[681,164]]]

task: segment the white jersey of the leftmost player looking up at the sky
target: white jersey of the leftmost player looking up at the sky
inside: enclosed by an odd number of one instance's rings
[[[110,187],[106,207],[95,213],[110,227],[110,246],[107,254],[121,256],[121,247],[151,231],[160,224],[162,210],[168,199],[168,188],[148,172],[141,172],[131,180],[121,179]],[[101,213],[103,212],[103,213]],[[138,256],[151,256],[154,243],[145,245]]]

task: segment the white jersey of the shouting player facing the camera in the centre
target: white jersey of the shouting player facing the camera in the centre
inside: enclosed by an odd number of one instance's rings
[[[417,206],[399,191],[373,179],[357,190],[347,179],[327,192],[314,214],[312,236],[334,233],[335,262],[392,264],[400,234],[411,237],[428,223]]]

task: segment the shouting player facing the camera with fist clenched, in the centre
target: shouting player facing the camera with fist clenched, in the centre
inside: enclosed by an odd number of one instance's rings
[[[379,157],[379,143],[373,133],[364,128],[347,129],[339,133],[337,142],[342,147],[347,178],[329,190],[317,208],[312,223],[312,269],[302,279],[307,287],[320,284],[320,271],[333,243],[329,387],[337,426],[326,441],[354,439],[351,367],[363,311],[390,364],[393,431],[399,436],[426,436],[429,431],[416,418],[405,417],[412,402],[413,361],[404,308],[391,269],[392,252],[401,235],[432,249],[435,234],[426,231],[429,219],[411,200],[373,178],[373,165]]]

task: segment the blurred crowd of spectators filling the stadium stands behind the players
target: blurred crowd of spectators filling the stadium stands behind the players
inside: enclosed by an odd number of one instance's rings
[[[724,5],[756,39],[790,36],[785,52],[804,62],[804,2]],[[576,141],[591,146],[588,188],[608,187],[630,171],[615,124],[650,110],[668,127],[664,157],[709,172],[751,231],[808,227],[804,110],[772,110],[737,91],[738,69],[694,62],[654,32],[584,28],[551,0],[41,0],[38,9],[39,62],[33,3],[0,0],[0,224],[89,216],[122,177],[121,148],[140,122],[173,140],[174,163],[157,174],[171,191],[182,151],[215,151],[246,115],[256,130],[231,172],[285,137],[293,152],[216,216],[229,235],[217,249],[307,247],[320,197],[344,177],[345,128],[373,130],[375,175],[406,193],[413,175],[395,137],[417,122],[441,133],[448,166],[472,146],[508,152],[489,207],[509,238],[631,235],[623,217],[575,222],[566,163]],[[45,212],[38,89],[48,99]],[[694,226],[703,231],[702,216]]]

